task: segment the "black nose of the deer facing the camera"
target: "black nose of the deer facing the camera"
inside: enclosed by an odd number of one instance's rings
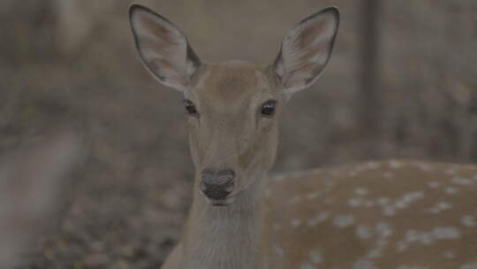
[[[235,173],[231,169],[205,169],[201,173],[201,190],[210,199],[223,200],[231,194]]]

